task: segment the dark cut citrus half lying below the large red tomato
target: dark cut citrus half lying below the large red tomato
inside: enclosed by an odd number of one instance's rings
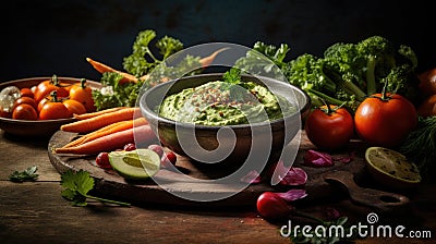
[[[368,170],[379,183],[392,188],[409,188],[421,182],[415,163],[408,161],[402,154],[384,148],[370,147],[365,159]]]

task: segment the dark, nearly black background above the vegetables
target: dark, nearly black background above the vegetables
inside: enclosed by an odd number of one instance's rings
[[[319,56],[334,42],[382,35],[411,46],[423,71],[436,66],[431,2],[9,0],[1,4],[0,82],[52,74],[99,81],[85,58],[122,70],[136,35],[147,28],[158,37],[175,37],[184,47],[286,42],[290,58]]]

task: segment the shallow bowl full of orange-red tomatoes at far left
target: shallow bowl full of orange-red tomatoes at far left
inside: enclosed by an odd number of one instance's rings
[[[0,129],[19,136],[51,136],[73,114],[95,111],[100,83],[75,77],[29,77],[0,83]]]

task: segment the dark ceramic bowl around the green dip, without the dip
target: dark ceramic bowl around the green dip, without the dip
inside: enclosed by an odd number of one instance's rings
[[[252,159],[259,160],[264,160],[267,157],[268,161],[277,159],[283,147],[290,143],[301,129],[302,118],[306,115],[311,107],[310,97],[303,90],[289,83],[269,77],[249,75],[242,77],[246,82],[252,81],[259,85],[266,85],[272,93],[283,96],[296,106],[296,112],[275,121],[208,126],[177,122],[162,118],[157,113],[156,108],[161,102],[162,97],[177,94],[184,88],[197,87],[218,80],[222,80],[222,73],[186,76],[169,81],[144,91],[140,100],[141,111],[149,121],[161,144],[180,155],[187,156],[194,161],[205,163],[243,162],[249,156]],[[225,130],[225,135],[220,136],[219,132],[225,127],[231,129],[232,132]],[[220,150],[218,150],[216,151],[217,155],[210,156],[209,152],[218,147],[223,149],[226,154],[221,156],[219,155]],[[230,149],[227,150],[226,148]],[[208,160],[209,158],[210,160]]]

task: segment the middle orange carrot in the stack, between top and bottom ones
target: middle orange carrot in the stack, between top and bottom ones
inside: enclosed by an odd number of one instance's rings
[[[125,131],[129,129],[132,129],[133,126],[141,126],[141,125],[146,125],[148,124],[148,121],[145,120],[144,118],[137,118],[135,120],[128,120],[128,121],[120,121],[113,124],[109,124],[102,129],[99,129],[95,132],[88,133],[69,144],[66,144],[63,147],[73,147],[73,146],[78,146],[81,144],[94,141],[96,138],[120,132],[120,131]]]

